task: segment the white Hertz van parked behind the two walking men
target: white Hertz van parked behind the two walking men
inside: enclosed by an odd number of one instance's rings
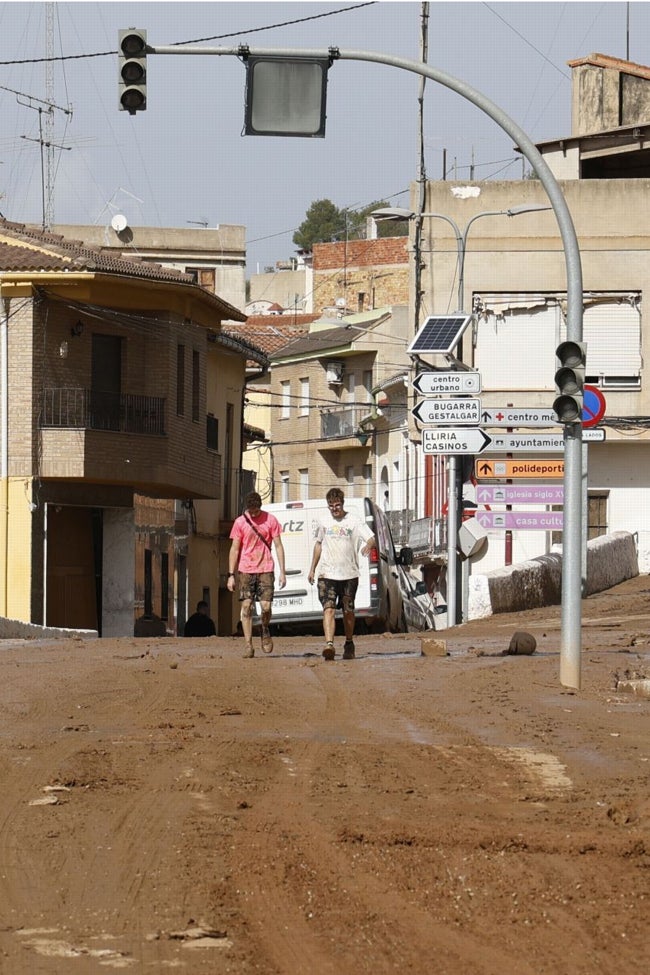
[[[286,587],[276,586],[271,625],[318,623],[323,618],[318,586],[310,586],[307,577],[314,551],[314,523],[328,514],[327,502],[324,498],[287,501],[265,504],[264,510],[282,525],[287,574]],[[346,498],[345,510],[367,522],[377,541],[367,557],[359,556],[359,588],[354,601],[357,626],[361,622],[367,631],[375,633],[405,631],[398,566],[410,564],[410,549],[402,549],[399,555],[395,552],[386,515],[370,498]],[[277,571],[276,563],[276,579]]]

